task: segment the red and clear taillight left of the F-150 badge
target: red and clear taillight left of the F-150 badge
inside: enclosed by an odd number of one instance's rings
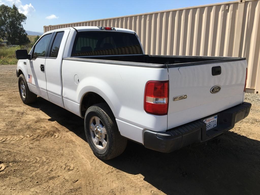
[[[166,115],[168,93],[169,81],[148,81],[145,86],[145,111],[154,115]]]

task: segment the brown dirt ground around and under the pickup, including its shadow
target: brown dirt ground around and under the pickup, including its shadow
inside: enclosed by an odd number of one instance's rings
[[[219,144],[159,153],[128,141],[96,158],[83,119],[41,97],[24,105],[15,65],[0,66],[0,194],[259,194],[260,95]]]

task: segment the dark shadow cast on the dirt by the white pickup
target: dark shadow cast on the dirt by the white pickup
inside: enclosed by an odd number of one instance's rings
[[[83,119],[41,97],[30,105],[39,108],[51,121],[87,141]],[[128,141],[119,157],[103,161],[132,175],[136,188],[147,189],[145,182],[166,194],[259,194],[260,141],[234,132],[221,136],[219,144],[186,147],[160,153]],[[151,192],[158,194],[159,192]]]

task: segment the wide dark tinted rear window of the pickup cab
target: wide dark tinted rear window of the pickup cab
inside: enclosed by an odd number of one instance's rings
[[[143,54],[134,34],[116,31],[84,31],[76,35],[71,56]]]

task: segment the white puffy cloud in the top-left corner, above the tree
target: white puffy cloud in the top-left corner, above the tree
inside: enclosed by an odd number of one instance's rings
[[[15,4],[15,6],[18,8],[18,11],[25,16],[30,16],[32,12],[35,12],[34,6],[31,3],[29,3],[29,5],[23,5],[20,0],[0,0],[0,5],[1,4],[5,4],[8,6],[12,6],[13,4]]]

